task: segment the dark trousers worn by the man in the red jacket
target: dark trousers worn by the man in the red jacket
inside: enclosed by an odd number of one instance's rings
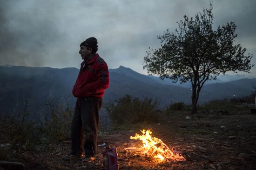
[[[86,156],[96,155],[101,107],[101,98],[77,99],[71,125],[71,154],[80,155],[84,149]]]

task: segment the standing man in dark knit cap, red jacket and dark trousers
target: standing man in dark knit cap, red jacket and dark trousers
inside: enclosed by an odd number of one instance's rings
[[[99,110],[104,89],[109,85],[108,65],[96,53],[97,44],[94,37],[80,44],[79,54],[84,61],[73,88],[77,101],[71,127],[71,153],[64,159],[82,158],[86,162],[95,159]]]

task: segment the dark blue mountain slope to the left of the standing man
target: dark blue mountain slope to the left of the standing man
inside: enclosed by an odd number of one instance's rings
[[[47,100],[56,105],[71,94],[78,71],[76,68],[0,67],[0,114],[22,112],[26,100],[31,118],[44,117]],[[72,104],[74,101],[73,97]]]

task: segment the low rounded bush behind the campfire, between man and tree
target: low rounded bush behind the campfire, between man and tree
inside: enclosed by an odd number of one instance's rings
[[[126,95],[115,102],[109,102],[104,107],[112,120],[113,126],[131,125],[141,122],[158,121],[161,110],[159,102],[151,98],[139,98]]]

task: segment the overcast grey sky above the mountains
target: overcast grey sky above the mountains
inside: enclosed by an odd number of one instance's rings
[[[203,7],[209,0],[0,0],[0,65],[79,68],[79,45],[95,37],[110,69],[147,74],[143,57],[160,47],[157,36]],[[213,0],[213,15],[214,29],[235,22],[235,43],[255,64],[256,0]],[[256,76],[256,66],[251,72]]]

